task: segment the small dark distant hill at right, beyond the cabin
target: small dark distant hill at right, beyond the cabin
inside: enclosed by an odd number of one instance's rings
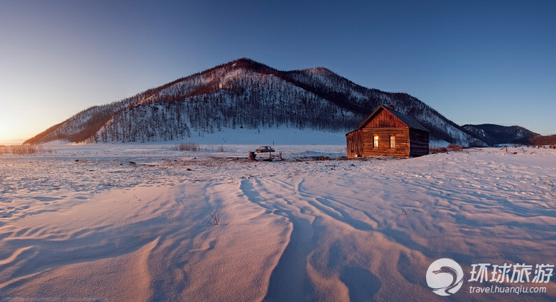
[[[479,135],[488,144],[530,144],[531,137],[539,136],[521,126],[500,126],[493,124],[464,125],[466,130]]]

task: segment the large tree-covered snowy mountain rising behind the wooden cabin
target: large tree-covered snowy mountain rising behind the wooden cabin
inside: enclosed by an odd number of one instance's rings
[[[414,117],[433,140],[487,144],[409,94],[362,87],[325,68],[282,72],[245,58],[88,108],[25,143],[195,141],[242,128],[337,135],[352,131],[379,104]]]

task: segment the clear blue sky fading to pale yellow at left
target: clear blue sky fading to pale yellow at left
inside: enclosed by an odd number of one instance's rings
[[[556,1],[0,0],[0,142],[237,58],[556,133]]]

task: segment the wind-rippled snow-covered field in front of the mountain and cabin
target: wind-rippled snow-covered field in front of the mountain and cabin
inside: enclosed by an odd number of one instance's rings
[[[275,146],[284,161],[247,161],[256,147],[0,156],[0,299],[444,301],[425,279],[439,258],[464,271],[452,299],[556,299],[554,276],[532,282],[556,264],[556,150],[341,160],[344,145]],[[482,263],[532,265],[530,282],[471,280]]]

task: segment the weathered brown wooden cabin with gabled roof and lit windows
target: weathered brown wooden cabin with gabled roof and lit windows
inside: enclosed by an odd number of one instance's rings
[[[409,115],[380,105],[356,130],[345,135],[347,158],[360,156],[424,156],[429,131]]]

